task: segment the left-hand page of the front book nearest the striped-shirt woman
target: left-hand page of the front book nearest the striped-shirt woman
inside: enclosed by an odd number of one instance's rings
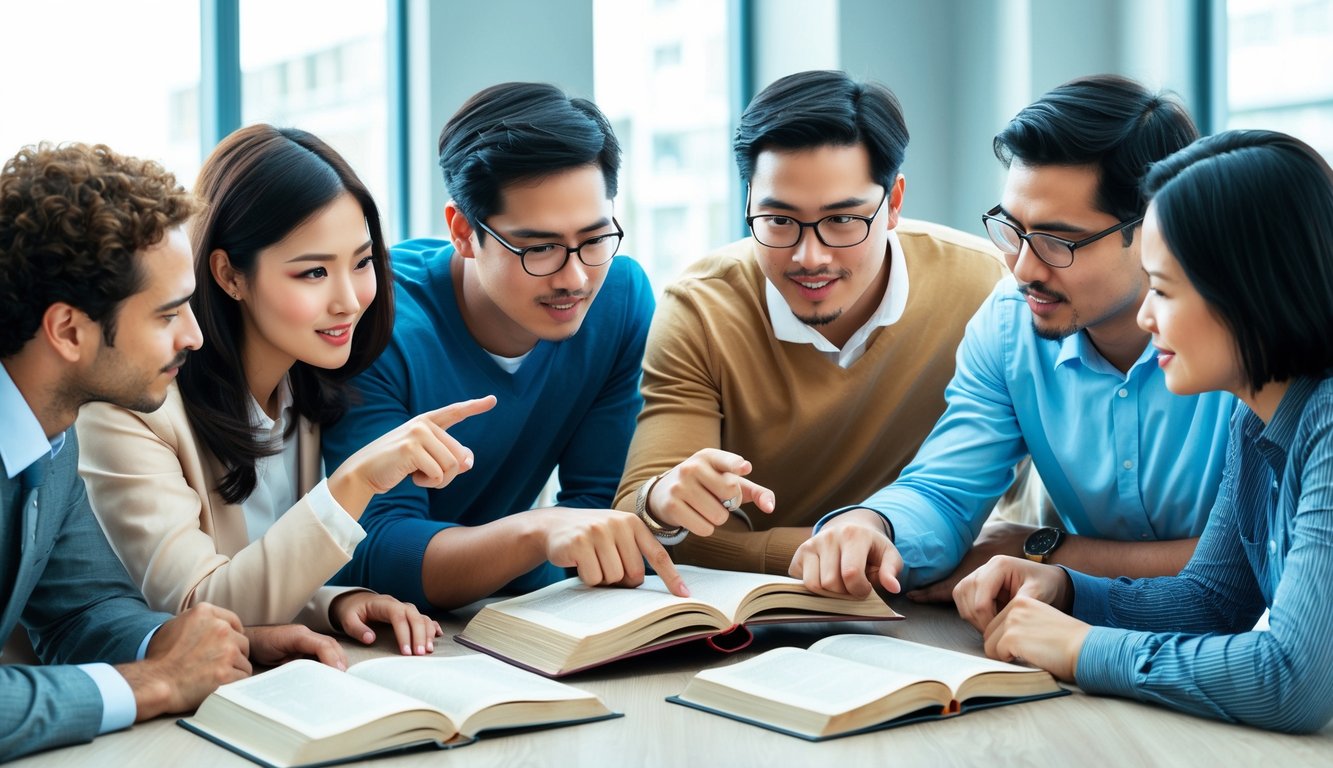
[[[705,669],[696,677],[829,716],[924,680],[804,648],[774,648],[738,664]]]

